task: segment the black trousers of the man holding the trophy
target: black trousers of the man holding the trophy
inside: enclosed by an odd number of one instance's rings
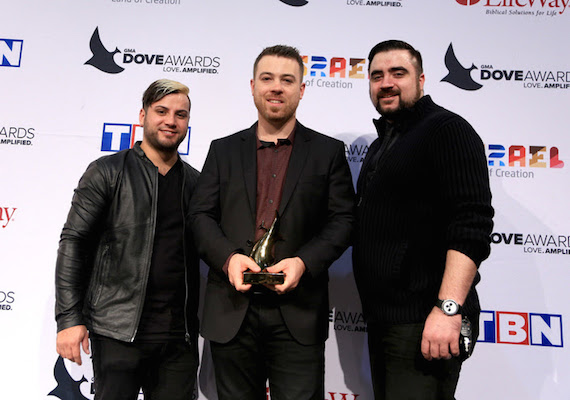
[[[289,333],[271,296],[253,296],[240,331],[211,342],[220,400],[323,400],[324,343],[305,346]]]

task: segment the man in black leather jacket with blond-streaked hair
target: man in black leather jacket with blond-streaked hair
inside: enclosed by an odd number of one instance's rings
[[[57,352],[93,352],[95,399],[190,399],[198,367],[198,255],[187,228],[198,172],[178,156],[188,88],[152,83],[142,142],[92,162],[56,265]]]

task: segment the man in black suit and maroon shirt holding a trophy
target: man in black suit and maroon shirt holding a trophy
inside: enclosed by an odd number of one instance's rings
[[[327,269],[348,247],[354,190],[342,142],[296,120],[303,61],[289,46],[264,49],[251,91],[258,122],[212,142],[192,201],[196,245],[209,265],[202,335],[211,342],[218,396],[324,398]],[[252,243],[278,211],[276,285],[247,285],[260,271]]]

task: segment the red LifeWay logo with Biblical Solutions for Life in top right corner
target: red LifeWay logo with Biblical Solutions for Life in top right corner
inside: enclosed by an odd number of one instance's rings
[[[486,14],[550,16],[564,14],[570,0],[455,0],[462,6],[479,4]]]

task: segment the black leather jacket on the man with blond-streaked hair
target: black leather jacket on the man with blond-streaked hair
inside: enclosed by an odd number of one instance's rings
[[[198,171],[183,163],[182,206],[188,211]],[[133,341],[142,313],[156,227],[158,168],[136,143],[101,157],[83,174],[61,233],[56,265],[58,332],[86,325]],[[184,215],[186,339],[198,331],[199,258]]]

